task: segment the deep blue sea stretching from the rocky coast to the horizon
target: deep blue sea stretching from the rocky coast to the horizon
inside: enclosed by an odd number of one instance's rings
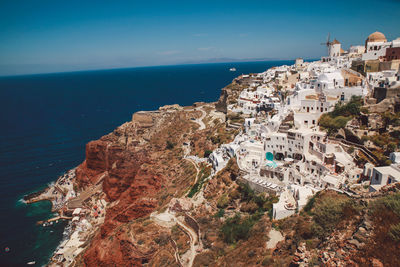
[[[88,141],[138,110],[217,101],[220,89],[238,75],[283,64],[293,61],[0,77],[0,265],[46,264],[66,223],[36,225],[52,216],[50,203],[20,200],[81,163]]]

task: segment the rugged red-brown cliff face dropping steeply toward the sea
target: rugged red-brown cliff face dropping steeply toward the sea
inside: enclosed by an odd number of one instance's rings
[[[104,223],[78,258],[81,264],[140,266],[157,260],[155,252],[168,259],[174,255],[162,229],[153,226],[144,231],[140,220],[134,220],[146,218],[192,184],[195,169],[182,159],[181,147],[184,136],[198,128],[191,120],[197,116],[195,110],[175,109],[136,113],[131,122],[87,144],[86,160],[76,170],[76,183],[82,190],[102,183],[110,204]],[[137,227],[132,229],[132,223]],[[164,241],[154,241],[158,239]],[[173,256],[170,260],[175,262]]]

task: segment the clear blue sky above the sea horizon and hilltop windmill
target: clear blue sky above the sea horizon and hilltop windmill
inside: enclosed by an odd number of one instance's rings
[[[400,1],[0,1],[0,75],[319,58],[400,37]]]

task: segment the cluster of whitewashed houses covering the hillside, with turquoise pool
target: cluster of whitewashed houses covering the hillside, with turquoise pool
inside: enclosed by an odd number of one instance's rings
[[[387,42],[383,34],[373,33],[365,46],[344,51],[334,40],[328,43],[329,56],[320,61],[296,59],[292,66],[259,73],[237,103],[228,106],[229,112],[249,118],[232,143],[210,155],[214,169],[222,169],[236,156],[239,168],[247,173],[243,179],[252,188],[280,195],[273,206],[274,219],[300,210],[321,189],[346,190],[362,175],[370,177],[371,191],[400,181],[398,165],[360,169],[343,146],[318,127],[320,116],[337,102],[372,96],[377,86],[396,86],[398,69],[368,72],[364,77],[353,62],[383,62],[387,53],[396,57],[398,49],[400,39]],[[392,58],[391,67],[396,60]]]

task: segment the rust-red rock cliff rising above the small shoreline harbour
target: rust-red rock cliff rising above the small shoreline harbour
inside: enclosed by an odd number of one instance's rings
[[[102,182],[107,201],[111,202],[104,223],[83,255],[86,266],[140,266],[143,260],[151,258],[150,252],[133,245],[131,234],[121,234],[118,229],[150,215],[160,204],[162,185],[178,176],[173,167],[160,159],[169,163],[181,160],[168,157],[166,154],[175,152],[165,151],[165,144],[166,140],[176,143],[173,138],[181,138],[185,130],[190,130],[184,124],[192,123],[193,115],[182,114],[139,114],[132,122],[86,145],[86,160],[76,170],[77,184],[84,189]],[[175,119],[176,123],[169,123]],[[157,120],[160,127],[153,127]],[[184,177],[185,166],[176,166]],[[187,188],[191,181],[185,183],[181,183],[182,187]]]

